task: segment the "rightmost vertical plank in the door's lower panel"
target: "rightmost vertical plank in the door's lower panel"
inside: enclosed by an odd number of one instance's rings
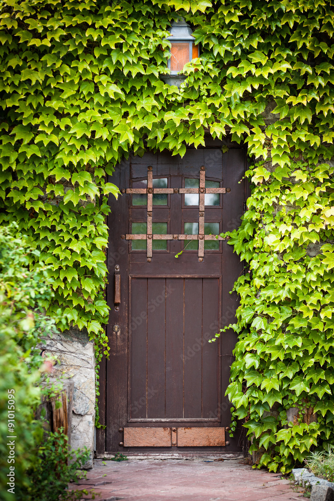
[[[217,418],[220,414],[219,403],[219,362],[220,340],[208,343],[214,335],[210,325],[219,318],[219,279],[203,279],[203,407],[202,417]]]

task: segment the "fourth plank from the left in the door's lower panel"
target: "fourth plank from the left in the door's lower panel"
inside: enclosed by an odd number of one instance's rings
[[[202,283],[184,279],[184,417],[202,414]]]

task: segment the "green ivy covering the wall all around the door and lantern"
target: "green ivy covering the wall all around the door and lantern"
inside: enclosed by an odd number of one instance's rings
[[[231,239],[251,273],[237,285],[241,340],[230,397],[273,469],[334,438],[326,372],[334,306],[331,4],[0,3],[0,218],[16,220],[52,265],[47,311],[66,319],[62,328],[86,328],[106,348],[106,195],[118,194],[106,175],[129,151],[183,155],[209,131],[231,134],[262,161],[251,169],[256,187]],[[164,38],[179,15],[201,54],[177,89],[160,75]],[[317,422],[288,426],[285,409],[298,403],[314,405]],[[266,415],[269,408],[278,410]]]

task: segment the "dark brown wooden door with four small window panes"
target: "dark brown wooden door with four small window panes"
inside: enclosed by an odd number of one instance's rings
[[[238,436],[225,443],[235,335],[208,340],[237,307],[242,266],[214,235],[240,223],[244,171],[244,149],[213,146],[132,156],[112,176],[106,451],[240,450]]]

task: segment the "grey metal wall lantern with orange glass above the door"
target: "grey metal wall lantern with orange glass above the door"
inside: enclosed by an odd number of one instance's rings
[[[170,70],[169,75],[161,75],[162,80],[169,85],[180,87],[186,77],[182,75],[183,67],[194,58],[198,58],[198,45],[195,45],[195,37],[192,36],[190,26],[183,18],[174,21],[169,30],[171,56],[168,59],[167,67]]]

